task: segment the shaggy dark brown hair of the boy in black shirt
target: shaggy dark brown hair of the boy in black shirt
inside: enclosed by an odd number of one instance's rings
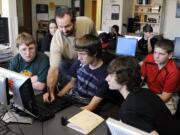
[[[141,72],[138,61],[131,56],[120,56],[108,66],[109,74],[116,74],[116,81],[126,85],[128,91],[135,91],[141,85]]]

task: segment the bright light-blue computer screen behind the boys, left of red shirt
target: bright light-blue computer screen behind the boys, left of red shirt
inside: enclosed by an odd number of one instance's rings
[[[135,56],[136,46],[137,39],[118,37],[116,45],[116,54]]]

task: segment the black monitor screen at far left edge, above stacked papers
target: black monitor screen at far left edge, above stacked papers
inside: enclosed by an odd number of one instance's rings
[[[0,44],[9,43],[8,18],[0,17]]]

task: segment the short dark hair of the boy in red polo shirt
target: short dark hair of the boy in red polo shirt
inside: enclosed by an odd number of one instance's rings
[[[155,48],[156,47],[165,50],[167,53],[171,53],[174,51],[174,43],[173,43],[173,41],[171,41],[169,39],[162,39],[162,40],[156,42]]]

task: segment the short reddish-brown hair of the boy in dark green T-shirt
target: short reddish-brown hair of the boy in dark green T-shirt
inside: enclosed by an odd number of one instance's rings
[[[26,32],[20,33],[16,38],[16,47],[19,48],[19,45],[21,44],[26,44],[27,46],[29,46],[30,44],[34,44],[36,47],[33,36]]]

